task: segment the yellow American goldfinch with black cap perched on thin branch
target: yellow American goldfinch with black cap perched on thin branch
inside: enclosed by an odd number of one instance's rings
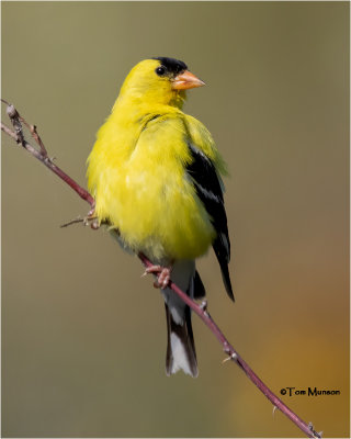
[[[206,127],[182,112],[188,89],[204,82],[184,63],[146,59],[126,77],[88,158],[88,187],[99,222],[127,249],[143,251],[160,273],[167,315],[167,374],[197,376],[191,313],[169,288],[205,295],[195,259],[211,246],[226,291],[230,241],[222,182],[226,166]]]

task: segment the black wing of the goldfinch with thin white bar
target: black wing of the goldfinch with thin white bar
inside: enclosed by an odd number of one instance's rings
[[[213,243],[213,249],[219,262],[226,291],[234,301],[228,270],[230,240],[219,178],[212,160],[193,144],[188,143],[188,145],[192,161],[186,166],[186,172],[191,177],[196,189],[196,194],[204,204],[217,233],[217,237]]]

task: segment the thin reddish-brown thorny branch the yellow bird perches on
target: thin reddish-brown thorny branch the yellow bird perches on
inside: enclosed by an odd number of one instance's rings
[[[93,210],[94,210],[94,199],[90,195],[88,191],[81,188],[75,180],[68,177],[60,168],[53,164],[53,161],[47,156],[47,150],[37,134],[36,127],[34,125],[30,125],[22,116],[20,116],[19,112],[14,109],[13,105],[10,105],[7,101],[2,100],[3,103],[8,105],[8,115],[11,120],[11,123],[14,127],[14,132],[10,130],[7,125],[1,123],[1,130],[8,134],[12,139],[14,139],[18,144],[20,143],[30,154],[32,154],[35,158],[42,161],[47,168],[49,168],[53,172],[55,172],[59,178],[61,178],[67,184],[69,184],[75,192],[78,193],[80,198],[86,200],[90,206],[91,211],[89,212],[87,218],[77,218],[71,222],[65,224],[63,227],[66,227],[70,224],[75,224],[78,222],[83,222],[88,224],[89,221],[92,221],[92,225],[94,224]],[[22,125],[29,127],[32,137],[36,142],[39,147],[39,150],[32,147],[24,138]],[[95,224],[97,225],[97,224]],[[95,227],[93,227],[95,228]],[[144,255],[138,255],[139,259],[144,263],[146,268],[151,267],[151,261]],[[186,303],[191,307],[191,309],[197,314],[197,316],[203,320],[203,323],[210,328],[210,330],[214,334],[217,340],[222,344],[224,351],[228,354],[228,359],[233,360],[238,364],[238,367],[247,374],[249,380],[267,396],[267,398],[273,404],[274,409],[281,410],[288,419],[291,419],[296,427],[298,427],[308,438],[320,438],[321,432],[316,432],[312,423],[306,424],[303,419],[301,419],[293,410],[291,410],[252,371],[252,369],[242,360],[239,353],[234,349],[234,347],[226,339],[222,330],[218,328],[216,323],[213,320],[211,315],[207,312],[207,302],[204,301],[202,304],[197,304],[193,300],[189,297],[179,286],[176,285],[174,282],[170,281],[170,289],[178,294],[178,296]]]

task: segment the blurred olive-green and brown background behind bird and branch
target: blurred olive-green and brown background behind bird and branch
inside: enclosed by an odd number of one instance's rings
[[[2,97],[86,184],[128,70],[184,60],[185,111],[228,162],[237,302],[212,251],[210,311],[325,437],[349,436],[348,2],[2,2]],[[4,115],[4,109],[2,109]],[[4,115],[5,116],[5,115]],[[88,205],[2,139],[3,437],[302,437],[194,316],[200,376],[165,374],[161,296]]]

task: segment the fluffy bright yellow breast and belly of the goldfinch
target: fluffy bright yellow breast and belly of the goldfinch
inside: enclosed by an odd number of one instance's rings
[[[215,238],[185,170],[189,135],[178,109],[122,111],[102,126],[89,157],[88,187],[99,218],[150,258],[196,258]]]

